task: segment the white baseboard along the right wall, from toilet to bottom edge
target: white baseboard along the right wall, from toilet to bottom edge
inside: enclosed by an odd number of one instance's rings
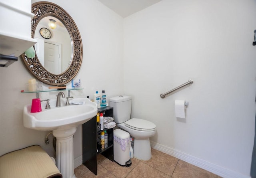
[[[180,152],[178,150],[169,148],[167,146],[164,146],[162,144],[159,144],[159,143],[156,143],[153,141],[150,141],[150,145],[151,145],[151,148],[154,148],[158,151],[161,151],[161,152],[164,152],[171,156],[174,156],[175,158],[186,161],[186,162],[193,164],[195,166],[198,166],[204,170],[208,170],[209,172],[217,174],[218,176],[221,176],[223,178],[250,178],[250,176],[248,176],[248,175],[244,175],[239,172],[235,172],[233,170],[223,168],[216,164],[212,164],[212,163],[202,160],[200,158],[196,158],[196,157],[186,154],[184,152]]]

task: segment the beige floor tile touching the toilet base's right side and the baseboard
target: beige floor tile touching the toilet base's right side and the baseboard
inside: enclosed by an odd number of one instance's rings
[[[148,161],[142,161],[153,168],[164,172],[168,176],[171,176],[175,166],[178,162],[178,158],[170,156],[169,154],[165,154],[155,149],[151,149],[152,151],[152,158]]]

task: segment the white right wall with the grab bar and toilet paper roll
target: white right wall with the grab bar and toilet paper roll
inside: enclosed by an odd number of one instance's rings
[[[153,143],[215,165],[225,177],[250,174],[255,9],[255,0],[163,0],[124,19],[132,117],[156,124]],[[160,98],[188,79],[194,85]],[[175,117],[175,99],[189,102],[186,119]]]

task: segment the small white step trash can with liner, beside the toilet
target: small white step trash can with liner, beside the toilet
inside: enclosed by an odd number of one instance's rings
[[[121,129],[114,130],[114,161],[120,166],[129,167],[130,160],[130,134]]]

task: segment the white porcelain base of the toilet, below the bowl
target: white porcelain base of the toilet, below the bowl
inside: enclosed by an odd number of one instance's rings
[[[139,160],[150,160],[152,157],[151,146],[149,138],[147,139],[138,139],[134,138],[134,157]]]

